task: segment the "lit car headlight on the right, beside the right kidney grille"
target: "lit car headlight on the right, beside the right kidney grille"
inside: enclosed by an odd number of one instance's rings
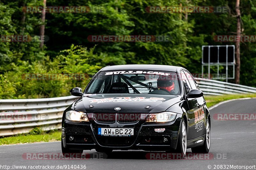
[[[171,122],[175,120],[177,113],[162,112],[162,113],[150,113],[146,122]]]

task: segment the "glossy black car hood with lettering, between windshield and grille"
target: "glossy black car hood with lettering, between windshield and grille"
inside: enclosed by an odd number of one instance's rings
[[[93,112],[157,113],[182,100],[175,95],[148,94],[84,94],[73,103],[73,109]],[[119,110],[115,108],[120,108]]]

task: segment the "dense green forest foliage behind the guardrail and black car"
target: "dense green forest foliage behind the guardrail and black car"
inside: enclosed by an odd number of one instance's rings
[[[228,13],[148,13],[147,6],[228,6]],[[0,35],[39,35],[40,13],[23,6],[43,0],[1,0]],[[0,98],[68,95],[86,80],[24,79],[26,73],[95,74],[117,64],[165,64],[201,73],[201,46],[225,45],[214,35],[236,32],[235,1],[225,0],[47,0],[47,6],[100,6],[100,13],[46,13],[44,50],[40,42],[0,41]],[[255,35],[256,2],[241,0],[244,35]],[[169,42],[89,42],[89,35],[169,35]],[[256,43],[241,43],[241,84],[256,87]],[[230,81],[232,82],[232,80]]]

